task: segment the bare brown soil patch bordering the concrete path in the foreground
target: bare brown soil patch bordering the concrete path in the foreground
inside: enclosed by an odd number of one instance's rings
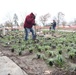
[[[37,59],[35,54],[28,51],[19,56],[15,52],[12,53],[9,47],[5,48],[0,44],[0,52],[12,59],[28,75],[50,75],[53,70],[42,59]]]

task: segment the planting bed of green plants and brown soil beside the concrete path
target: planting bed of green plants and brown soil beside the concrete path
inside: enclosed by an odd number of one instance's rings
[[[23,32],[0,36],[0,51],[28,75],[76,75],[76,33],[43,31],[24,41]],[[30,35],[31,36],[31,35]]]

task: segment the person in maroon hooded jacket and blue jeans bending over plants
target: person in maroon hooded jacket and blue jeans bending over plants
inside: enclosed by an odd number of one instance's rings
[[[24,22],[25,40],[28,40],[29,31],[32,33],[32,39],[36,38],[35,32],[32,28],[33,25],[35,25],[35,15],[33,13],[30,13],[29,15],[26,16]]]

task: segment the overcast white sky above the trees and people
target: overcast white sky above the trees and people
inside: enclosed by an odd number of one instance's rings
[[[34,12],[37,18],[49,13],[52,19],[62,12],[69,22],[76,18],[76,0],[0,0],[0,24],[13,20],[14,13],[19,22],[24,21],[30,12]]]

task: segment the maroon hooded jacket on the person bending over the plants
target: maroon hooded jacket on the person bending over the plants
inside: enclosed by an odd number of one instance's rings
[[[31,13],[30,15],[26,16],[24,28],[32,28],[33,25],[35,25],[35,15]]]

